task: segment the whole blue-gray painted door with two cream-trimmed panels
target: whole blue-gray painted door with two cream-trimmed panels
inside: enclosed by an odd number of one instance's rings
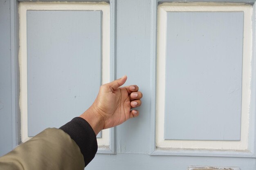
[[[85,169],[256,169],[254,1],[25,1],[0,6],[1,154],[127,75],[140,115],[103,130]]]

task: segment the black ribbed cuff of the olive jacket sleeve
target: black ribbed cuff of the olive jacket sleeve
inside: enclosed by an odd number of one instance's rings
[[[97,150],[98,144],[96,135],[90,124],[81,117],[75,117],[67,124],[60,127],[61,130],[66,132],[79,146],[85,166],[92,161]]]

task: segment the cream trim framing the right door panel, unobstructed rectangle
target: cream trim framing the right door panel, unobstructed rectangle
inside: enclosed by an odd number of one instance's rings
[[[240,141],[194,141],[164,140],[165,103],[165,51],[167,11],[243,11],[243,80]],[[163,3],[157,14],[157,102],[156,102],[156,147],[181,149],[247,150],[249,133],[250,82],[252,75],[252,6],[248,4],[225,4],[213,2]]]

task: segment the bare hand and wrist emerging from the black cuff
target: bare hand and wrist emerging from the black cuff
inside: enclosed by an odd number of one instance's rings
[[[142,93],[137,85],[121,87],[127,80],[123,76],[113,82],[103,84],[94,103],[82,115],[97,135],[101,130],[117,126],[137,117],[139,110],[131,110],[141,105]]]

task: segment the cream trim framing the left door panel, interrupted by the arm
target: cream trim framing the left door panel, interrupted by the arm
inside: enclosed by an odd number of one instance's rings
[[[21,141],[28,137],[27,125],[27,10],[101,10],[102,11],[102,84],[110,82],[110,5],[106,2],[20,2],[20,119]],[[109,146],[110,130],[97,138],[99,146]]]

